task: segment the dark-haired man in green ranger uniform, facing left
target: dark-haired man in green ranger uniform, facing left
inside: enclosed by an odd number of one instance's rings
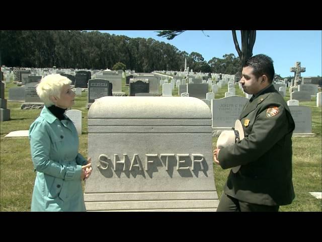
[[[272,59],[258,54],[243,67],[240,83],[252,98],[239,116],[244,139],[214,150],[214,162],[230,170],[217,211],[278,211],[292,203],[294,120],[274,88]],[[236,132],[235,132],[236,133]]]

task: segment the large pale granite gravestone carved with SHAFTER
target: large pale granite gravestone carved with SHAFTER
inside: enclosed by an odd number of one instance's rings
[[[102,97],[88,113],[88,211],[215,211],[211,113],[186,97]]]

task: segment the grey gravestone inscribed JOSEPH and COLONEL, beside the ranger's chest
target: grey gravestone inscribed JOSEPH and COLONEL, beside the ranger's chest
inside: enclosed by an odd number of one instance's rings
[[[246,97],[228,96],[211,100],[212,128],[219,130],[231,129],[235,120],[239,118],[245,104]]]

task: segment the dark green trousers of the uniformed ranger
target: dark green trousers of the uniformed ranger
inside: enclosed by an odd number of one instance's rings
[[[278,212],[280,206],[267,206],[239,201],[222,193],[217,212]]]

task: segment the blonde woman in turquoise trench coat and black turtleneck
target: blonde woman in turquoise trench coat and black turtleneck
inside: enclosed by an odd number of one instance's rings
[[[87,161],[78,153],[76,128],[64,114],[75,98],[70,83],[52,74],[36,88],[45,106],[29,129],[37,171],[31,211],[86,211],[82,180],[92,172],[91,158]]]

